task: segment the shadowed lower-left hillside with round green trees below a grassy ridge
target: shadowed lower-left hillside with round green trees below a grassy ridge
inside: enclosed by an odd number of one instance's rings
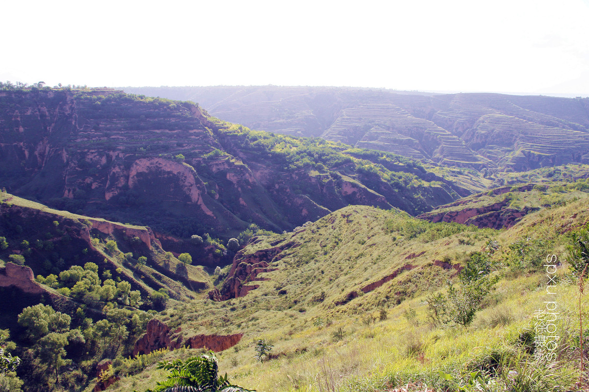
[[[0,192],[0,357],[22,359],[24,390],[80,390],[102,359],[132,353],[158,311],[209,287],[209,274],[164,252],[149,227]],[[19,390],[4,365],[0,386]]]

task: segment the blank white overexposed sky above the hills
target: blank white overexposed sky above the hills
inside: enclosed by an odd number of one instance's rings
[[[0,81],[589,96],[589,0],[5,1]]]

